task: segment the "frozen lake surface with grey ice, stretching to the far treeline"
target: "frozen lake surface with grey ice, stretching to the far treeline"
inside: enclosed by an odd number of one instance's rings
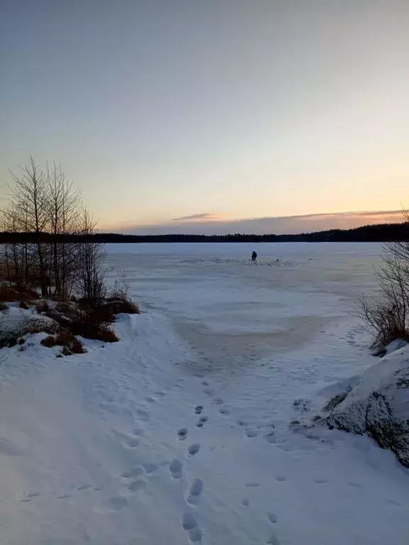
[[[113,244],[108,263],[143,309],[169,316],[206,358],[237,363],[351,321],[354,302],[375,288],[380,253],[377,243]]]

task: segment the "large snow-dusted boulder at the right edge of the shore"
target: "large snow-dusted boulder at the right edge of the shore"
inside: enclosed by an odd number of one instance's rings
[[[329,426],[371,436],[409,467],[409,347],[373,365],[327,407]]]

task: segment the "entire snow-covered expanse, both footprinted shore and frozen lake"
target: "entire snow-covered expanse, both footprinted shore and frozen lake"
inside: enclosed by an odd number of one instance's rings
[[[375,363],[350,312],[379,252],[110,246],[111,281],[143,309],[121,342],[1,351],[1,544],[407,544],[392,453],[289,429]]]

